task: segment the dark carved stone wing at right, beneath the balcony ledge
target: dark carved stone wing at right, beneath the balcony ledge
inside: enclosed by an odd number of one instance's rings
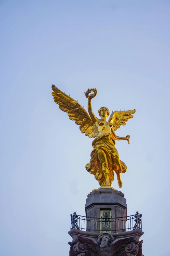
[[[125,244],[134,242],[135,236],[130,236],[126,238],[118,238],[110,244],[109,256],[113,256],[117,251],[119,251]]]

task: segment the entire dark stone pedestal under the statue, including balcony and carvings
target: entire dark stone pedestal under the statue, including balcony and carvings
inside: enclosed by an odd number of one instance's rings
[[[111,187],[92,191],[86,199],[86,217],[71,214],[69,255],[144,256],[143,241],[139,241],[142,215],[137,212],[128,219],[126,209],[120,191]]]

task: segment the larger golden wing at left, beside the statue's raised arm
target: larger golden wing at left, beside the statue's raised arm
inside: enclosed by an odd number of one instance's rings
[[[55,85],[52,85],[52,96],[59,108],[68,113],[71,120],[74,120],[77,125],[80,125],[80,130],[89,138],[97,136],[97,129],[92,119],[85,109],[73,98],[60,91]]]

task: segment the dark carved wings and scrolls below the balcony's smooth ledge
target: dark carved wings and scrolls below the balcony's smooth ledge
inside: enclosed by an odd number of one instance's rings
[[[70,244],[70,256],[142,256],[142,242],[135,236],[117,238],[104,232],[93,238],[78,236]]]

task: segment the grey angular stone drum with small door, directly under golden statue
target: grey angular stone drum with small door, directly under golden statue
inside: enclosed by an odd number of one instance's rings
[[[123,193],[113,188],[100,188],[92,191],[87,197],[85,209],[88,231],[125,231],[127,205]],[[102,221],[110,218],[112,221],[109,223]]]

